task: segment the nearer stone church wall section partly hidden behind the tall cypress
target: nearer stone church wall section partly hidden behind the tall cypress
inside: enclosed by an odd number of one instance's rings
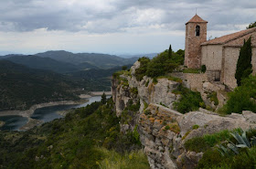
[[[224,69],[223,79],[221,82],[234,89],[237,87],[237,79],[235,79],[235,73],[237,69],[237,62],[240,56],[240,47],[226,47],[224,48]],[[256,72],[256,48],[252,48],[251,64],[253,73]]]

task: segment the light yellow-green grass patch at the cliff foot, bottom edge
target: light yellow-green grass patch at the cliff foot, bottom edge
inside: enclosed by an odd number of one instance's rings
[[[102,147],[97,148],[97,150],[105,157],[102,161],[96,162],[101,169],[150,168],[142,150],[124,153],[123,155]]]

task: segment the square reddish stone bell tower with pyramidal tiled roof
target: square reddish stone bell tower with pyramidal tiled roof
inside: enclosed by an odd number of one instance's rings
[[[208,21],[201,17],[193,16],[186,24],[185,40],[185,66],[188,69],[199,69],[201,67],[200,46],[207,41]]]

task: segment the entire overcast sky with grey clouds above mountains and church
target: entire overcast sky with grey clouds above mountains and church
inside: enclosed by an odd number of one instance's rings
[[[208,20],[208,37],[256,21],[255,0],[1,0],[0,54],[137,54],[184,48],[185,23]]]

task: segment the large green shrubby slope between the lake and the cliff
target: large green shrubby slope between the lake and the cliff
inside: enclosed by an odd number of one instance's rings
[[[135,132],[121,133],[112,100],[103,102],[27,132],[0,132],[2,167],[149,168]]]

